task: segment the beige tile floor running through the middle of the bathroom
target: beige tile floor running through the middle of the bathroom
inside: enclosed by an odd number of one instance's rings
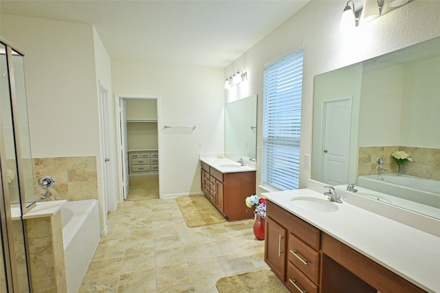
[[[188,228],[175,199],[127,200],[109,214],[79,292],[217,292],[222,276],[268,268],[252,225]]]

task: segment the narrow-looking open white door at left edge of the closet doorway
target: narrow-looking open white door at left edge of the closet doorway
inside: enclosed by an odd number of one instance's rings
[[[129,181],[129,150],[127,149],[128,142],[126,138],[126,102],[120,99],[119,107],[120,116],[120,131],[121,131],[121,158],[122,158],[122,193],[124,199],[129,195],[130,181]]]

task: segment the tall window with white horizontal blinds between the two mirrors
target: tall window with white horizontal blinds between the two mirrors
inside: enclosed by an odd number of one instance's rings
[[[298,189],[303,51],[264,69],[263,185]]]

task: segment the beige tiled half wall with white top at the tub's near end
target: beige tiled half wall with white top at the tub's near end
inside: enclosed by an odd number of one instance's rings
[[[37,206],[25,218],[32,292],[67,292],[63,229],[59,201]],[[43,212],[43,213],[41,213]]]

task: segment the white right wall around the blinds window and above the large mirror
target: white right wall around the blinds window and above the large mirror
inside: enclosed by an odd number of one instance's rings
[[[226,100],[259,95],[258,127],[262,126],[263,65],[300,45],[305,46],[301,130],[300,187],[310,178],[304,155],[311,153],[314,76],[440,36],[440,1],[412,1],[382,17],[342,34],[339,29],[347,1],[311,1],[283,25],[225,69],[248,72],[245,83],[228,89]],[[262,147],[261,131],[257,138]],[[261,170],[261,151],[257,155]],[[313,160],[313,158],[312,158]],[[257,184],[261,172],[257,171]]]

